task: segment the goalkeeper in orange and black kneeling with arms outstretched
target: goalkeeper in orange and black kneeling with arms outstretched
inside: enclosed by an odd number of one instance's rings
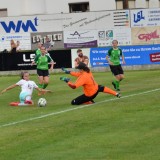
[[[98,95],[99,92],[109,93],[120,98],[120,93],[105,86],[98,85],[94,80],[90,69],[85,63],[80,62],[76,68],[79,69],[78,72],[73,72],[62,68],[65,73],[78,77],[75,83],[72,83],[67,77],[60,77],[60,80],[65,81],[72,89],[76,89],[80,86],[83,87],[84,94],[73,99],[71,101],[72,105],[92,104],[94,103],[93,99]]]

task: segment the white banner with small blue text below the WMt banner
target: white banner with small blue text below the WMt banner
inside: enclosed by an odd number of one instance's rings
[[[15,43],[19,41],[20,50],[31,50],[31,38],[30,33],[21,33],[21,34],[0,34],[0,51],[11,50],[11,40],[14,40]]]

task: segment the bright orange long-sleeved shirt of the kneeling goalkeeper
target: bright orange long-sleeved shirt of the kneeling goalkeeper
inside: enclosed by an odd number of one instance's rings
[[[98,91],[98,84],[94,80],[91,72],[70,72],[72,76],[78,77],[75,83],[68,82],[68,85],[75,89],[83,87],[83,92],[86,96],[93,96]]]

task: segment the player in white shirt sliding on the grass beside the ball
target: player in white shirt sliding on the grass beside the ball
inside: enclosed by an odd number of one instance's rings
[[[11,102],[10,103],[11,106],[33,105],[34,103],[32,101],[32,93],[34,89],[38,90],[39,92],[43,92],[43,93],[51,92],[50,90],[38,88],[36,83],[30,80],[28,72],[21,72],[21,80],[7,87],[3,91],[1,91],[1,94],[17,86],[21,87],[21,92],[19,94],[20,102]]]

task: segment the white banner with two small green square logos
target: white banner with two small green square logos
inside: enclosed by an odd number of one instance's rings
[[[119,45],[131,45],[131,29],[130,28],[112,28],[98,30],[98,46],[111,46],[112,41],[118,40]]]

